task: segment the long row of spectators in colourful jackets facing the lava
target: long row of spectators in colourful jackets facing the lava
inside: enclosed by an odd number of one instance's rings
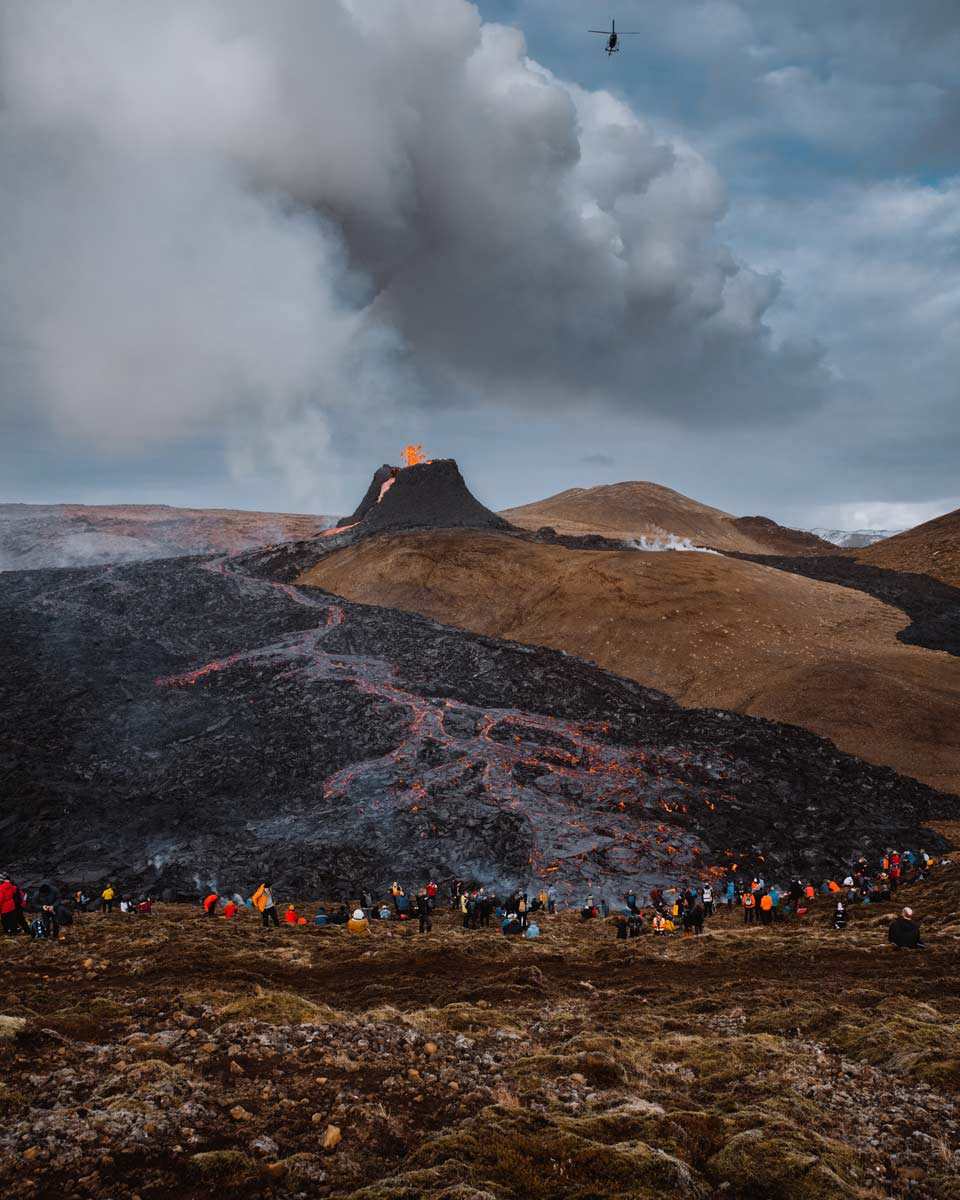
[[[878,904],[894,898],[900,887],[923,880],[934,865],[925,850],[888,850],[871,870],[866,858],[858,857],[841,881],[824,878],[820,883],[791,880],[788,884],[768,882],[762,875],[744,877],[736,871],[720,876],[714,884],[683,884],[654,887],[648,901],[641,902],[635,890],[628,890],[611,906],[605,896],[588,895],[577,906],[582,922],[610,922],[618,940],[650,932],[656,936],[683,934],[700,936],[706,923],[725,913],[725,920],[743,913],[746,926],[769,926],[787,920],[803,922],[816,906],[822,913],[828,906],[832,925],[847,926],[854,906]],[[8,936],[25,934],[35,940],[62,936],[64,926],[73,924],[79,913],[136,913],[149,916],[155,898],[150,894],[124,895],[107,881],[94,894],[78,889],[72,896],[61,896],[50,883],[43,883],[28,894],[16,882],[0,875],[0,919]],[[468,887],[454,880],[442,895],[440,886],[431,880],[414,892],[394,881],[386,894],[377,899],[364,890],[356,902],[318,905],[308,916],[288,904],[283,914],[269,880],[262,882],[245,898],[240,893],[221,895],[211,889],[202,900],[206,917],[235,920],[242,912],[259,913],[264,928],[342,925],[353,936],[370,936],[376,922],[416,922],[420,934],[433,929],[437,908],[448,905],[463,930],[496,928],[508,937],[536,938],[540,922],[557,913],[559,896],[553,884],[541,884],[536,892],[517,889],[509,895],[497,895],[481,886]],[[30,919],[28,919],[28,917]],[[919,924],[913,910],[902,908],[890,922],[889,941],[902,949],[923,949]]]

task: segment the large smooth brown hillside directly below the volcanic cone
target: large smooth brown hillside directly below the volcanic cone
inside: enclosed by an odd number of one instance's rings
[[[960,662],[863,593],[718,554],[570,551],[497,533],[367,539],[302,583],[592,659],[684,704],[805,726],[960,792]]]

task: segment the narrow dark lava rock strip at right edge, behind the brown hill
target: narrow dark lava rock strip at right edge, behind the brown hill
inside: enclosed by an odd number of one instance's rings
[[[952,588],[949,583],[929,575],[870,566],[839,553],[804,558],[727,553],[730,558],[744,558],[762,566],[804,575],[809,580],[866,592],[910,617],[911,624],[900,630],[898,641],[923,646],[928,650],[960,654],[960,588]]]

